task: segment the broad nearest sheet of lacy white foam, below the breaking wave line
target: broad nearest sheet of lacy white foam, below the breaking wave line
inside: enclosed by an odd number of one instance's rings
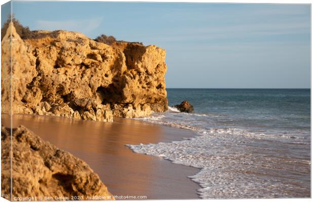
[[[225,141],[222,142],[221,138]],[[189,140],[128,146],[136,153],[163,157],[176,164],[201,168],[198,174],[189,178],[201,185],[202,188],[198,191],[202,198],[300,196],[298,193],[304,191],[302,187],[294,186],[291,179],[282,178],[296,165],[299,172],[306,172],[308,161],[265,158],[259,148],[237,140],[227,139],[225,135],[203,133]],[[260,154],[255,155],[256,153]],[[278,167],[285,164],[290,166]],[[301,167],[300,164],[304,166]],[[276,172],[278,169],[284,170],[281,176]],[[272,176],[274,174],[277,177]]]

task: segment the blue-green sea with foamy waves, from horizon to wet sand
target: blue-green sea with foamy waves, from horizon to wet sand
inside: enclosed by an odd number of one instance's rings
[[[310,89],[167,89],[169,110],[137,118],[192,138],[128,145],[200,168],[201,198],[310,197]],[[188,100],[195,113],[174,105]],[[179,130],[178,130],[179,131]]]

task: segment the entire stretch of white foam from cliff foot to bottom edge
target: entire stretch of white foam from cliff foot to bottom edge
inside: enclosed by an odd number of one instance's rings
[[[210,123],[210,117],[206,123]],[[288,157],[291,145],[308,147],[295,135],[249,132],[238,128],[206,128],[185,113],[155,113],[139,120],[194,131],[197,136],[182,141],[147,145],[128,145],[136,153],[162,157],[176,164],[200,168],[189,176],[202,188],[202,198],[304,197],[307,183],[294,178],[297,167],[301,177],[308,177],[309,160]],[[275,141],[276,140],[276,141]],[[299,144],[305,143],[305,145]],[[278,149],[280,148],[280,149]],[[301,183],[301,184],[300,184]]]

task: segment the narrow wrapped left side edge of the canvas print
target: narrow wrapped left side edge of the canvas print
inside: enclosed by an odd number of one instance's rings
[[[2,22],[12,19],[12,4],[2,5]],[[2,23],[3,25],[4,23]],[[1,196],[12,200],[12,28],[2,31],[1,40]]]

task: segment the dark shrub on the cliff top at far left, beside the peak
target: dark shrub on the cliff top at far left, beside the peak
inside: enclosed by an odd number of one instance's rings
[[[1,28],[1,40],[7,33],[7,29],[9,28],[9,24],[11,22],[11,15],[8,16],[8,20],[5,22],[3,27]],[[26,38],[33,38],[35,33],[32,32],[29,27],[24,27],[23,25],[20,24],[20,22],[14,17],[12,17],[12,22],[15,26],[16,32],[20,35],[22,39]]]

